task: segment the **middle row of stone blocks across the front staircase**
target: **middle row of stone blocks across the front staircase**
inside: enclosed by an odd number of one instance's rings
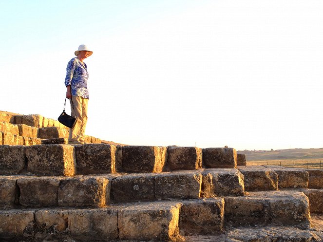
[[[0,209],[15,207],[103,207],[158,199],[198,199],[244,195],[242,174],[206,169],[151,174],[96,176],[0,176]]]

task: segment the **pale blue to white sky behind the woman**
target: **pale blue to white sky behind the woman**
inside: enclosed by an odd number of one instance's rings
[[[86,133],[131,145],[321,148],[320,0],[0,0],[0,110],[57,118],[79,44]]]

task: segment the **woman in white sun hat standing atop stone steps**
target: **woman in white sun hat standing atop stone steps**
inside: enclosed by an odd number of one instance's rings
[[[81,44],[74,54],[76,57],[67,64],[65,86],[67,88],[66,97],[70,99],[71,103],[71,115],[77,117],[77,121],[73,129],[70,129],[68,143],[84,144],[85,126],[88,120],[89,91],[87,81],[89,73],[83,60],[91,56],[93,51],[89,51],[86,45]]]

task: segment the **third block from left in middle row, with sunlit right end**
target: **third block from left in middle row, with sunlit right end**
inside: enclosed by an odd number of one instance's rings
[[[110,200],[111,185],[103,177],[69,178],[58,189],[59,206],[102,207]]]

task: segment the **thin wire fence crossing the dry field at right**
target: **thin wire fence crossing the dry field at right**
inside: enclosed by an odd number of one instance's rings
[[[258,165],[280,166],[286,168],[306,168],[306,169],[322,169],[322,161],[263,161],[257,162]]]

